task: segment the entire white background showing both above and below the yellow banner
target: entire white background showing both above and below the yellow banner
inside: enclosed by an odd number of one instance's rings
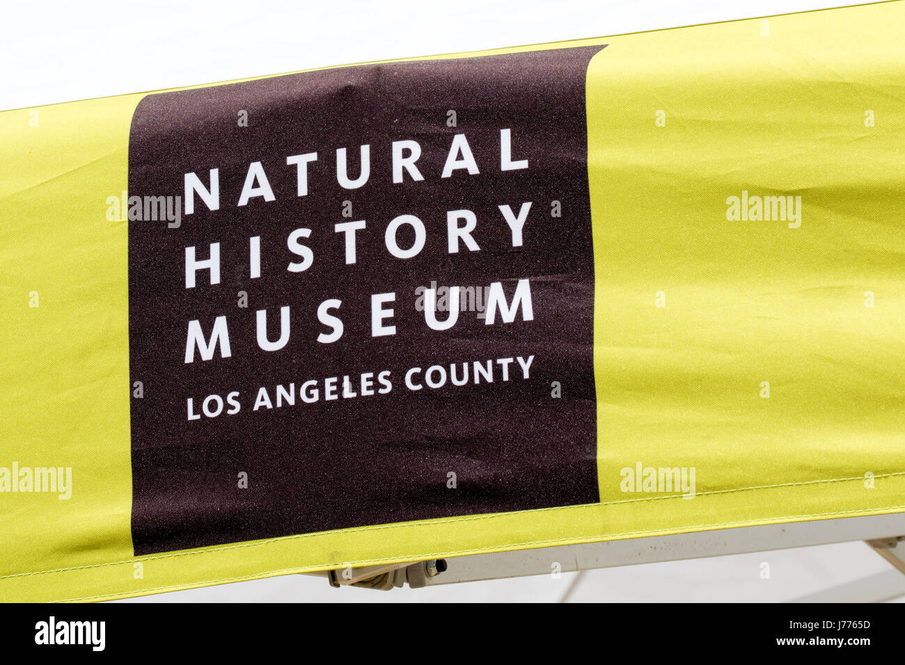
[[[354,62],[852,5],[821,0],[2,2],[0,109]],[[761,563],[770,579],[761,579]],[[592,571],[573,601],[786,601],[890,570],[862,543]],[[574,575],[429,589],[332,589],[305,575],[143,601],[557,601]]]

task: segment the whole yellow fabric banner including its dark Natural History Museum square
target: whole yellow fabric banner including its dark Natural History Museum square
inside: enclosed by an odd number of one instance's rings
[[[0,599],[905,510],[902,24],[0,113]]]

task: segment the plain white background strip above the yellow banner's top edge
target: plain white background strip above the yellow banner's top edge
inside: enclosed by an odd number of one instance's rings
[[[0,0],[0,109],[853,5],[825,0]]]

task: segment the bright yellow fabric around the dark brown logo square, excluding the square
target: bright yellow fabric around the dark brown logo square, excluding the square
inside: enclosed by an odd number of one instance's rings
[[[105,201],[143,95],[0,113],[0,466],[74,487],[0,494],[0,599],[905,510],[905,5],[766,21],[495,51],[609,44],[587,72],[589,506],[133,557],[128,223]],[[802,196],[800,226],[730,221],[743,191]],[[624,492],[638,462],[694,467],[695,498]]]

